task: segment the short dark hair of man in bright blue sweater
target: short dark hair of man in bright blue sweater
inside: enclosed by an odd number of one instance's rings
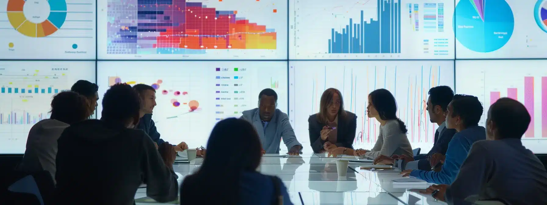
[[[454,95],[452,99],[452,118],[459,115],[465,123],[463,126],[479,125],[484,108],[478,97],[472,95]]]

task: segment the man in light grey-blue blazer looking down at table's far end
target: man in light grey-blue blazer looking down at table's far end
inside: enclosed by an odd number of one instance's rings
[[[281,139],[290,155],[299,155],[302,144],[296,139],[289,116],[277,109],[277,93],[264,89],[258,95],[258,108],[243,111],[242,119],[254,125],[266,153],[279,153]]]

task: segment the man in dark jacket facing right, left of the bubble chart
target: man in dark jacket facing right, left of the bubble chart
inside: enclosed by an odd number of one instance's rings
[[[137,84],[133,86],[142,101],[141,119],[138,122],[137,128],[144,130],[152,138],[156,144],[162,144],[165,141],[160,138],[160,133],[152,120],[152,112],[156,106],[156,90],[154,87],[145,84]],[[174,146],[175,151],[184,151],[188,149],[188,145],[185,142],[181,142]]]

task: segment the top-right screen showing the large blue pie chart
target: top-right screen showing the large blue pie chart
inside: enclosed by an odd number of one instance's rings
[[[456,58],[547,57],[544,0],[456,2]]]

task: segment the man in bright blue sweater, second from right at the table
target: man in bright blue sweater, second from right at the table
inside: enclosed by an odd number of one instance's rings
[[[440,172],[407,169],[400,173],[404,177],[415,177],[435,184],[451,184],[456,179],[459,167],[467,157],[471,145],[478,140],[486,139],[485,128],[479,126],[484,111],[479,98],[455,95],[446,111],[446,127],[456,129],[457,133],[448,145],[445,159],[440,160],[440,163],[444,162]]]

